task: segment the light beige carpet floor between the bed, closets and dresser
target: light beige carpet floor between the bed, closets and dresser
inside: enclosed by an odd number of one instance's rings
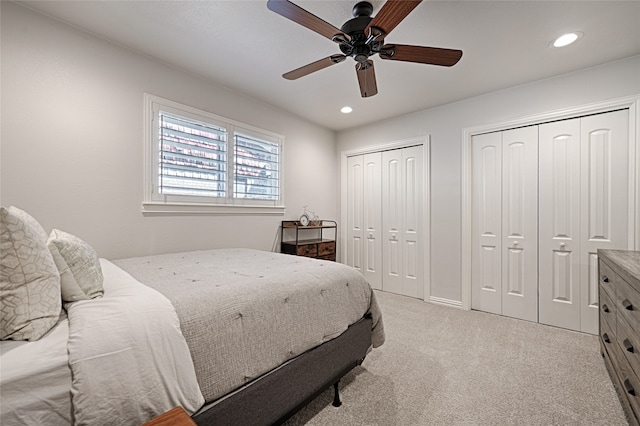
[[[376,292],[386,343],[295,425],[626,425],[598,337]]]

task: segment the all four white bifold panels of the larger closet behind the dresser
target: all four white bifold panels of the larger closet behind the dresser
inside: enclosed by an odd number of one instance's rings
[[[628,114],[473,137],[472,309],[598,333],[597,250],[632,238]]]

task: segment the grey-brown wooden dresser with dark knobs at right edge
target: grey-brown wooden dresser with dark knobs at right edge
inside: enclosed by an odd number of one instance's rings
[[[640,424],[640,252],[598,250],[600,348],[629,423]]]

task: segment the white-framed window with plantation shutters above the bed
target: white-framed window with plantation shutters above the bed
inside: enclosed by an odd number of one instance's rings
[[[145,95],[145,213],[282,214],[282,137]]]

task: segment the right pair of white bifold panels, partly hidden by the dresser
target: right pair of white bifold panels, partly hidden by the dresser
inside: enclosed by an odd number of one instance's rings
[[[540,126],[540,319],[598,333],[597,250],[629,243],[628,111]]]

